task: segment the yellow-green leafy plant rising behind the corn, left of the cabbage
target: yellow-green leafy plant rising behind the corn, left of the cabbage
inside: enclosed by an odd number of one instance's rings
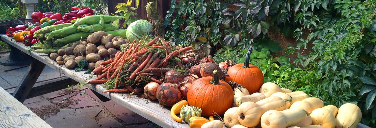
[[[136,2],[139,2],[137,0]],[[127,25],[130,25],[132,22],[137,21],[138,18],[132,17],[135,16],[137,13],[132,12],[131,10],[136,10],[136,7],[132,7],[132,0],[128,0],[127,3],[118,3],[116,8],[118,9],[115,13],[120,13],[123,15],[124,24],[123,27],[126,28]],[[138,3],[136,4],[138,6]]]

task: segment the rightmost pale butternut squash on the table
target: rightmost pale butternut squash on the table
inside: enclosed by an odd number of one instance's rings
[[[338,109],[335,119],[335,128],[356,128],[362,119],[362,112],[355,104],[346,103]]]

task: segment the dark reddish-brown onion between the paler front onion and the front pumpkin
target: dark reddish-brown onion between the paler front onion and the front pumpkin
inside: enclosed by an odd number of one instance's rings
[[[159,104],[164,107],[172,107],[174,104],[182,100],[182,94],[179,89],[176,88],[179,86],[172,83],[162,83],[157,88],[157,99]]]

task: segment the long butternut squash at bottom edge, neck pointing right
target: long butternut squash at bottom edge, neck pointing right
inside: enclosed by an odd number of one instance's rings
[[[283,111],[269,110],[261,116],[261,127],[286,128],[299,123],[306,116],[306,111],[299,107]]]

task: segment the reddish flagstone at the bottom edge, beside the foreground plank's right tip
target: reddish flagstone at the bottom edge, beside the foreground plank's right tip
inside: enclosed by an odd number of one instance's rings
[[[53,128],[100,128],[95,117],[103,107],[61,109],[45,120]]]

